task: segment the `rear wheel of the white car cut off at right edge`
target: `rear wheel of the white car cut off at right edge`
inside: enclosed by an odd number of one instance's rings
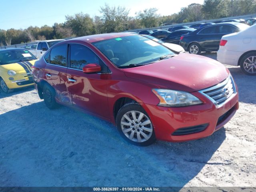
[[[256,75],[256,52],[244,55],[240,60],[240,68],[246,75]]]

